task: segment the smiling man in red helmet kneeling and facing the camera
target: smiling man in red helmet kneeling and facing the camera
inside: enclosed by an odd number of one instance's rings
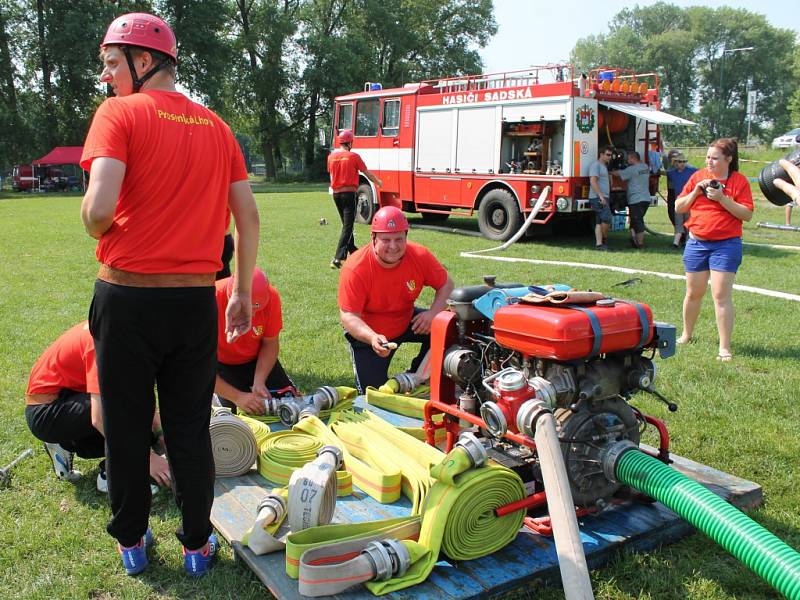
[[[417,370],[430,348],[433,318],[447,308],[453,291],[453,280],[436,257],[407,241],[408,220],[399,208],[375,213],[371,231],[372,245],[347,259],[339,279],[339,315],[362,394],[386,383],[402,343],[420,344],[409,369]],[[428,310],[414,306],[424,286],[436,290]]]

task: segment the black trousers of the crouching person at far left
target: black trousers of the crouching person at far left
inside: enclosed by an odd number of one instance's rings
[[[106,455],[105,438],[92,425],[92,401],[86,392],[63,389],[50,404],[29,404],[25,420],[43,442],[59,444],[81,458]]]

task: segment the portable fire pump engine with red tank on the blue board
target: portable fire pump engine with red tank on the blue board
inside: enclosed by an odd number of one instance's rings
[[[542,409],[558,423],[577,506],[602,507],[619,490],[604,464],[619,448],[638,446],[647,425],[658,432],[657,457],[668,462],[665,424],[629,402],[644,391],[677,410],[655,389],[653,362],[656,352],[674,354],[674,325],[654,321],[646,304],[603,294],[589,304],[532,304],[529,291],[539,288],[486,283],[454,290],[450,310],[433,321],[429,443],[444,428],[449,449],[461,426],[477,427],[490,456],[529,486],[528,507],[545,501],[533,442]],[[434,421],[437,413],[446,418]]]

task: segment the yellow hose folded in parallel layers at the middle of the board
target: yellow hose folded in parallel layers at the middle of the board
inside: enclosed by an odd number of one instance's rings
[[[411,514],[418,514],[433,484],[430,465],[442,460],[440,450],[398,431],[368,410],[339,413],[331,428],[356,458],[385,473],[399,471],[403,494],[411,500]]]

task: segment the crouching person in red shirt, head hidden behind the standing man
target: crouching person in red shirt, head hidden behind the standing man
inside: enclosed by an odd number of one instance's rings
[[[89,324],[82,321],[64,332],[38,358],[25,393],[25,420],[31,433],[44,442],[59,479],[77,481],[73,455],[101,458],[106,455],[100,384]],[[158,413],[153,418],[151,441],[158,441]],[[170,485],[169,465],[151,449],[150,476]],[[100,462],[97,489],[108,492],[105,460]],[[157,488],[156,488],[157,489]]]

